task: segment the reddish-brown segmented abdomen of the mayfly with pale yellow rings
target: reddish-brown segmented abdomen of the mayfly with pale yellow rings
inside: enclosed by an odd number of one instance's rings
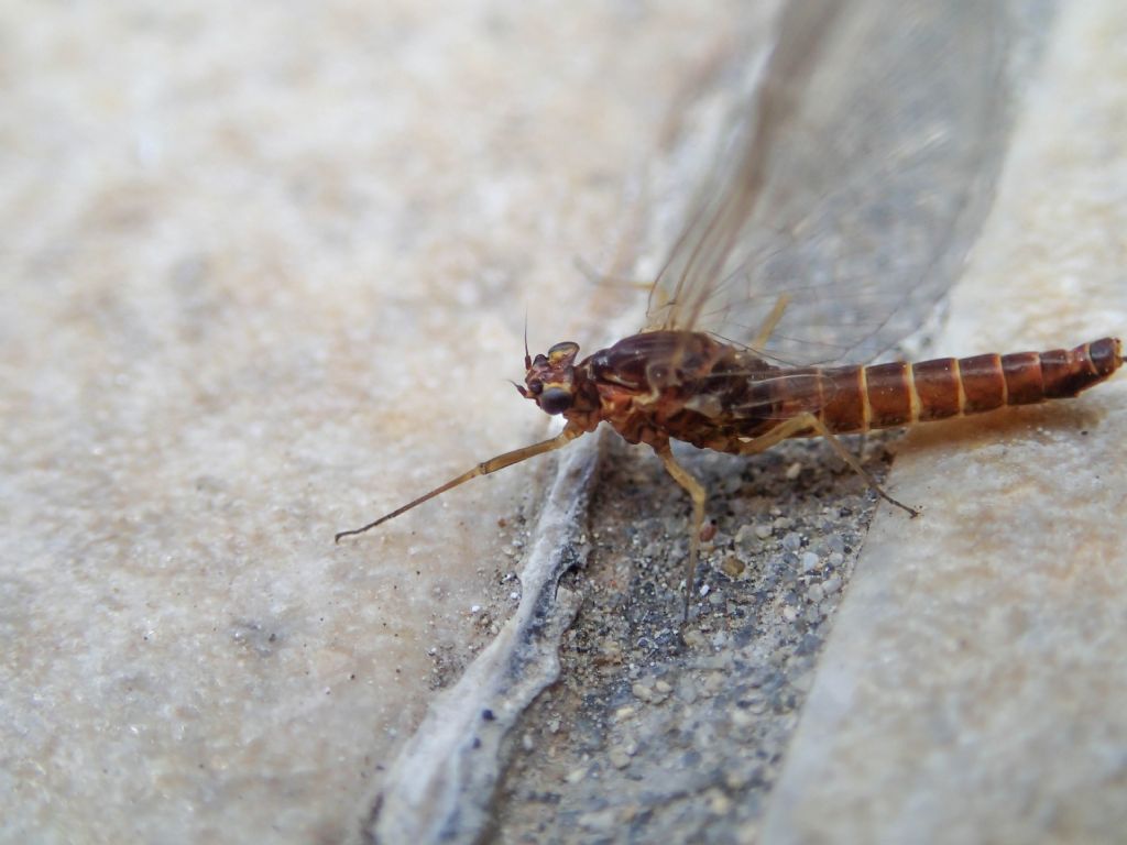
[[[982,413],[1074,397],[1121,364],[1119,340],[1102,338],[1075,349],[843,367],[826,373],[833,389],[818,416],[850,434]]]

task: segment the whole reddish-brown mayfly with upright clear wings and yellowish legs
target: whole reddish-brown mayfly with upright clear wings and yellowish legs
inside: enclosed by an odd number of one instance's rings
[[[671,441],[753,455],[837,435],[1074,397],[1120,341],[868,364],[958,274],[990,205],[1012,98],[1001,3],[798,0],[780,15],[738,153],[707,180],[650,291],[648,327],[579,359],[525,349],[521,395],[562,416],[551,439],[479,463],[336,540],[607,422],[650,446],[693,504],[685,615],[704,488]],[[868,365],[867,365],[868,364]]]

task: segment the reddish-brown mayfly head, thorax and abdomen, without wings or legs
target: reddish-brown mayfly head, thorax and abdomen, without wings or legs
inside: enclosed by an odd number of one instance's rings
[[[629,443],[662,450],[677,439],[734,454],[762,451],[758,438],[802,415],[824,430],[792,427],[784,436],[857,434],[1071,398],[1122,363],[1115,338],[1068,350],[844,367],[780,367],[684,331],[633,335],[575,363],[578,350],[566,343],[536,356],[521,390],[562,413],[576,435],[606,421]]]

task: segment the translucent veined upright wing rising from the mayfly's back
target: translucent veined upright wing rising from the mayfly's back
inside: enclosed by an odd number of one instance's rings
[[[1008,134],[1000,2],[795,0],[730,162],[650,293],[649,328],[868,361],[957,276]]]

